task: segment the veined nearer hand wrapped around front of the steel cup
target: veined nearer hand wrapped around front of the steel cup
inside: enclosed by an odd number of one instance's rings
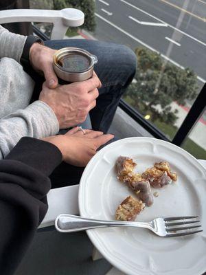
[[[86,120],[89,111],[96,105],[99,95],[97,88],[100,85],[95,73],[88,80],[58,86],[56,89],[49,89],[44,83],[39,100],[53,109],[60,129],[66,129]]]

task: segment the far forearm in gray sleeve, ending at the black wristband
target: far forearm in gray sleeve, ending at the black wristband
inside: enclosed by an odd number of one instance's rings
[[[0,25],[0,58],[9,57],[20,63],[27,36],[13,34]]]

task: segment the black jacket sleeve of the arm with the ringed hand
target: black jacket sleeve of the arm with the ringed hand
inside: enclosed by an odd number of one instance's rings
[[[49,175],[62,154],[48,142],[23,137],[0,161],[0,274],[14,274],[47,212]]]

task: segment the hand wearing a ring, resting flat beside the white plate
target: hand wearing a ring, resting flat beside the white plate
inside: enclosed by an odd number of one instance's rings
[[[50,142],[61,151],[63,160],[74,166],[84,167],[97,149],[113,139],[113,135],[104,135],[93,130],[78,131],[78,127],[71,129],[65,135],[45,137],[43,140]]]

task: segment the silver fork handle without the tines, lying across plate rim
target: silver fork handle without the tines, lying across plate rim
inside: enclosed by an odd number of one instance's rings
[[[113,226],[132,226],[150,228],[148,223],[136,221],[102,221],[87,219],[71,214],[60,214],[55,221],[56,230],[59,232],[76,232],[92,228],[106,228]]]

